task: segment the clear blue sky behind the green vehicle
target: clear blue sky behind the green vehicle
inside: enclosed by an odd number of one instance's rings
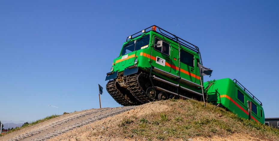
[[[98,108],[128,35],[158,25],[199,46],[279,117],[279,1],[1,1],[0,121]],[[104,89],[103,107],[119,107]]]

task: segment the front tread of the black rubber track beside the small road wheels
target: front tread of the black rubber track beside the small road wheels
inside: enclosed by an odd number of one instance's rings
[[[141,102],[141,104],[145,104],[150,101],[153,101],[153,99],[149,98],[146,95],[146,91],[140,85],[141,83],[139,82],[140,79],[148,79],[148,75],[145,73],[140,73],[140,74],[127,76],[126,84],[128,86],[128,90],[138,101]]]

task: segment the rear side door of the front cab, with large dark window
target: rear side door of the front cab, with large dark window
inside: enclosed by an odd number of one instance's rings
[[[180,49],[180,77],[187,79],[191,82],[196,82],[196,69],[195,69],[194,55],[187,50]]]

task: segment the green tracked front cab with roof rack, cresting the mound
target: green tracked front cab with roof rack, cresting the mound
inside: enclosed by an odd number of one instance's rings
[[[199,48],[158,26],[126,39],[106,80],[108,93],[121,105],[168,98],[202,100]]]

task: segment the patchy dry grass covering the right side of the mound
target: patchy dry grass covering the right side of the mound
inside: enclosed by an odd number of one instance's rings
[[[127,139],[176,140],[193,137],[227,137],[247,134],[261,140],[279,140],[279,130],[239,118],[223,108],[195,100],[164,101],[172,110],[148,115],[128,116],[119,123],[119,132]],[[167,131],[167,134],[166,132]],[[115,132],[115,131],[109,131]],[[164,133],[165,132],[165,133]]]

